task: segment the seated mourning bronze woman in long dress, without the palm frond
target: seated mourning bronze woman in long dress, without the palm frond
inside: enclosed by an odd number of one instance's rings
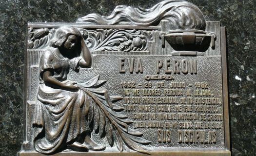
[[[92,58],[75,27],[57,29],[52,45],[39,61],[39,89],[33,117],[35,150],[50,154],[63,149],[100,151],[90,138],[86,93],[67,79],[69,70],[90,68]]]

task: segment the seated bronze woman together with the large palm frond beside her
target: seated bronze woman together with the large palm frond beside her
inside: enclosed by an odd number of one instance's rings
[[[77,152],[102,151],[91,133],[105,137],[110,147],[147,153],[150,141],[130,129],[133,121],[114,104],[123,98],[110,96],[100,88],[106,83],[99,75],[78,83],[67,79],[70,70],[91,68],[92,57],[84,29],[62,26],[53,34],[51,45],[39,59],[39,89],[32,119],[33,144],[37,152],[54,154],[66,149]],[[127,148],[128,147],[128,148]]]

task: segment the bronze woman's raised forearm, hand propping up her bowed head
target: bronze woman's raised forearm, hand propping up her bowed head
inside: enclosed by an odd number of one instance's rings
[[[79,66],[82,68],[91,68],[92,66],[91,53],[83,39],[81,39],[81,47],[82,47],[82,56],[81,56],[82,59],[79,61]]]

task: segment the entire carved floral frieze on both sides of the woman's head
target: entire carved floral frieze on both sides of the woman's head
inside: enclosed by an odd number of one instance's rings
[[[147,51],[148,41],[153,40],[154,31],[79,28],[90,51]],[[55,29],[28,29],[28,49],[43,49],[50,46]]]

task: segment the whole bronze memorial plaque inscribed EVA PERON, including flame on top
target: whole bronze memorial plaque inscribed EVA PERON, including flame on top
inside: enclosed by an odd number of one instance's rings
[[[230,156],[225,27],[184,0],[28,23],[19,156]]]

